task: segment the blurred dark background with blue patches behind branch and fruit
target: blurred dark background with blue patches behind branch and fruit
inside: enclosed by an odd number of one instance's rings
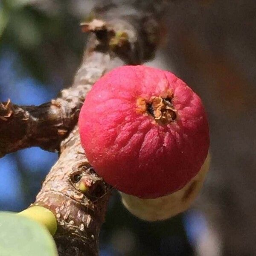
[[[93,0],[0,1],[0,102],[39,105],[69,86]],[[194,207],[168,221],[129,214],[114,193],[101,256],[256,255],[256,1],[169,1],[154,61],[203,99],[212,163]],[[29,148],[0,159],[0,210],[35,200],[56,153]]]

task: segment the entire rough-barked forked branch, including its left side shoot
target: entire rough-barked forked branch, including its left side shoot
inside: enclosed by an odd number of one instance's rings
[[[94,20],[83,24],[84,30],[93,33],[73,86],[38,107],[10,103],[1,107],[2,155],[32,145],[47,150],[59,148],[59,159],[32,205],[41,205],[55,214],[58,228],[54,238],[60,256],[98,255],[99,231],[111,191],[93,171],[80,145],[76,122],[84,96],[112,68],[140,64],[154,56],[163,4],[131,0],[105,1],[97,6]],[[86,192],[79,190],[80,180],[89,187]]]

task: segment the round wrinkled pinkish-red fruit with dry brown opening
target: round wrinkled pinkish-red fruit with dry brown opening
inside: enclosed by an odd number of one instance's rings
[[[99,79],[79,116],[95,171],[128,195],[158,198],[195,177],[209,149],[201,99],[174,74],[124,66]]]

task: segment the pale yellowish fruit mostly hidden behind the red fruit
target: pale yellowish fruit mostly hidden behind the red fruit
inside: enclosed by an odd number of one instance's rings
[[[121,193],[122,203],[136,217],[145,221],[162,221],[188,209],[203,186],[209,170],[210,155],[208,154],[198,174],[182,189],[160,198],[141,199],[134,195]]]

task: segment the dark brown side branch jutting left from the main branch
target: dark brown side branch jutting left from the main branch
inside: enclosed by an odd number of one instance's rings
[[[70,87],[61,97],[40,106],[0,104],[0,157],[22,148],[39,146],[57,151],[76,125],[86,87]]]

